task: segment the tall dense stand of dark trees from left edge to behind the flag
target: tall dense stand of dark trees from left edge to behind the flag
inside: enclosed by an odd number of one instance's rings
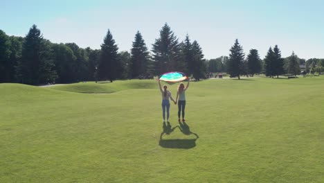
[[[168,71],[182,71],[196,80],[205,77],[207,68],[197,41],[179,42],[170,26],[165,24],[160,36],[148,51],[138,31],[132,49],[118,51],[108,29],[101,49],[80,48],[75,43],[55,44],[44,39],[33,25],[26,37],[8,36],[0,30],[0,82],[28,85],[153,78]]]

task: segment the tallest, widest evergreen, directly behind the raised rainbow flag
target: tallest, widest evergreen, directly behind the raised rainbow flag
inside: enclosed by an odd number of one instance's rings
[[[152,44],[155,73],[162,74],[167,71],[182,71],[178,38],[172,32],[170,26],[165,25],[160,30],[160,37]]]

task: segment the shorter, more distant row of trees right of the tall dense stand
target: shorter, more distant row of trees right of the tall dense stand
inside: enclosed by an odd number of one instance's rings
[[[235,40],[230,49],[229,56],[222,56],[216,59],[206,60],[208,70],[211,72],[226,72],[231,77],[254,76],[258,73],[264,73],[271,78],[279,77],[283,74],[298,75],[300,73],[300,64],[305,64],[306,73],[322,73],[324,71],[324,59],[312,58],[309,60],[298,58],[294,53],[287,58],[282,58],[278,45],[272,49],[270,46],[267,55],[263,60],[260,59],[258,50],[251,49],[249,55],[245,58],[242,46]]]

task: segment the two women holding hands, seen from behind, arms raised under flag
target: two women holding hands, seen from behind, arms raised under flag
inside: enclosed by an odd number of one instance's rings
[[[178,103],[178,121],[180,122],[180,114],[182,111],[182,121],[186,121],[184,119],[185,116],[185,109],[186,109],[186,90],[189,87],[189,80],[188,80],[188,84],[186,87],[184,87],[183,83],[181,82],[179,87],[178,87],[178,91],[177,91],[177,98],[174,101],[174,99],[171,96],[171,92],[168,90],[168,87],[166,85],[163,85],[163,89],[161,87],[161,83],[159,80],[159,87],[160,87],[160,91],[162,94],[162,111],[163,111],[163,122],[165,122],[165,110],[167,112],[167,120],[169,122],[169,117],[170,117],[170,101],[169,98],[174,102],[174,104]],[[179,101],[178,101],[179,98]]]

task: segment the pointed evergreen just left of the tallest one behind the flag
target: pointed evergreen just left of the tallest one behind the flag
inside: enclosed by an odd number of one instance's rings
[[[149,62],[150,56],[147,47],[141,33],[137,31],[131,51],[130,71],[132,72],[132,78],[147,76]]]

